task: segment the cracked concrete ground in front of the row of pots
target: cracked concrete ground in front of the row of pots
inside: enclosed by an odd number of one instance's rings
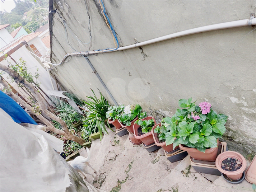
[[[149,153],[143,144],[135,146],[128,135],[119,137],[109,131],[102,141],[92,142],[90,164],[97,170],[96,181],[86,181],[106,192],[242,192],[253,191],[244,180],[230,184],[222,176],[197,173],[190,166],[190,156],[171,163],[161,148]],[[87,157],[87,151],[80,150]],[[248,167],[248,166],[247,166]],[[92,169],[88,168],[90,173]]]

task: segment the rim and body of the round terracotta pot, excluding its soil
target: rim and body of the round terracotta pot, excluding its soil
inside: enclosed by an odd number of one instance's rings
[[[240,169],[238,169],[236,171],[226,171],[226,170],[222,169],[222,167],[221,167],[222,161],[227,158],[231,158],[231,157],[237,158],[239,161],[241,161],[242,167]],[[227,175],[230,179],[233,179],[233,180],[238,180],[238,179],[242,178],[243,171],[245,170],[246,165],[247,165],[246,160],[243,157],[243,155],[241,155],[235,151],[225,151],[225,152],[219,154],[216,159],[215,164],[216,164],[217,169],[220,172]]]

